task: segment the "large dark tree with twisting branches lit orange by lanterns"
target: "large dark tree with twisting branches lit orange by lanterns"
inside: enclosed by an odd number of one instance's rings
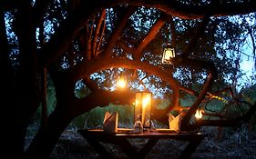
[[[220,124],[220,121],[204,121],[189,125],[191,115],[210,92],[215,79],[216,68],[213,63],[193,59],[194,45],[200,44],[202,35],[209,23],[218,21],[216,18],[224,15],[241,15],[255,12],[254,1],[4,1],[1,2],[0,20],[0,64],[1,64],[1,96],[3,112],[12,115],[1,121],[5,127],[5,150],[12,154],[24,155],[26,127],[33,114],[46,101],[46,71],[51,77],[56,89],[56,108],[46,117],[35,139],[26,150],[27,158],[47,158],[67,124],[77,115],[83,114],[97,105],[107,105],[112,101],[129,103],[133,99],[131,92],[110,92],[100,89],[90,78],[90,75],[108,68],[123,67],[131,70],[143,70],[148,75],[156,75],[165,81],[172,90],[172,102],[167,109],[155,110],[166,114],[169,109],[181,111],[179,91],[197,97],[185,116],[184,129],[193,129],[201,125]],[[130,17],[138,12],[141,6],[156,9],[158,14],[153,25],[143,32],[134,32]],[[144,11],[146,12],[146,11]],[[141,16],[143,12],[141,12]],[[107,15],[109,17],[107,17]],[[148,15],[148,21],[152,20]],[[174,65],[197,69],[203,68],[203,74],[208,75],[203,88],[197,92],[190,87],[179,84],[171,75],[171,70],[158,65],[150,65],[147,60],[159,58],[153,55],[149,44],[157,43],[155,38],[162,37],[162,28],[168,27],[173,35],[172,44],[177,45],[179,30],[171,21],[179,17],[185,20],[197,20],[198,28],[189,39],[188,44],[178,48],[181,54],[173,62]],[[10,26],[7,26],[10,24]],[[152,22],[150,22],[151,24]],[[217,23],[217,22],[216,22]],[[220,23],[220,22],[219,22]],[[52,29],[48,31],[47,26]],[[110,26],[109,26],[110,25]],[[189,24],[191,25],[191,24]],[[214,25],[213,25],[214,26]],[[207,30],[209,29],[209,30]],[[213,30],[217,30],[213,28]],[[249,27],[250,35],[255,31],[255,25]],[[254,30],[253,30],[254,29]],[[7,31],[6,31],[7,30]],[[47,31],[46,31],[47,30]],[[129,34],[140,33],[129,36]],[[177,37],[175,35],[177,34]],[[166,35],[163,34],[163,35]],[[136,37],[136,38],[135,38]],[[153,43],[154,42],[154,43]],[[236,43],[236,42],[235,42]],[[252,38],[255,44],[255,38]],[[255,45],[254,55],[255,55]],[[155,48],[159,50],[159,48]],[[149,55],[148,52],[149,51]],[[223,52],[225,53],[225,52]],[[147,56],[148,55],[148,56]],[[194,55],[196,56],[196,55]],[[201,56],[201,55],[199,55]],[[84,98],[74,94],[77,81],[81,80],[91,90]],[[126,95],[124,99],[122,96]],[[101,97],[101,100],[98,98]],[[255,103],[248,114],[255,112]],[[157,116],[155,116],[157,118]],[[236,118],[243,120],[244,115]],[[162,118],[159,118],[162,120]],[[222,123],[230,125],[232,120]],[[15,126],[14,126],[15,125]],[[13,134],[15,133],[15,134]]]

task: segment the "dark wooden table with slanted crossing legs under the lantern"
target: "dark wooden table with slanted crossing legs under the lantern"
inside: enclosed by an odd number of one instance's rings
[[[194,153],[202,139],[206,136],[206,134],[202,133],[189,133],[189,132],[163,132],[163,131],[145,131],[142,134],[137,133],[115,133],[109,134],[104,132],[101,129],[83,129],[77,131],[81,134],[87,142],[94,147],[98,154],[102,158],[113,158],[111,154],[105,149],[105,147],[100,144],[109,143],[118,145],[122,151],[128,155],[129,158],[132,159],[142,159],[144,158],[149,150],[158,143],[159,139],[173,139],[173,140],[181,140],[188,141],[189,144],[185,147],[183,152],[179,155],[179,158],[189,158],[191,154]],[[132,144],[128,142],[130,138],[145,138],[148,139],[148,143],[146,143],[140,151],[138,151]]]

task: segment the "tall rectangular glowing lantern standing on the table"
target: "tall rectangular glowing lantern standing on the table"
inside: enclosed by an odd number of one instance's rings
[[[152,103],[152,93],[150,92],[136,93],[134,120],[135,120],[135,123],[140,121],[144,129],[150,128],[151,103]]]

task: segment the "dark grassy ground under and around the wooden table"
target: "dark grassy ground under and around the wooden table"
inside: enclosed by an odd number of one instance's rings
[[[245,128],[238,130],[222,130],[222,136],[218,137],[217,128],[205,128],[209,135],[202,141],[191,159],[256,159],[256,132]],[[27,137],[29,141],[29,137]],[[31,139],[31,138],[30,138]],[[144,140],[133,142],[139,148]],[[105,144],[114,156],[119,159],[128,158],[122,154],[118,147]],[[186,143],[172,140],[161,140],[146,156],[146,159],[178,158]],[[68,128],[61,136],[50,159],[99,159],[100,156],[87,141],[77,133],[76,128]]]

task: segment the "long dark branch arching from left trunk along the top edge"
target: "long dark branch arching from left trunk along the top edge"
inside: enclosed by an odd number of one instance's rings
[[[234,1],[235,2],[235,1]],[[138,1],[138,0],[94,0],[87,4],[87,1],[81,2],[72,14],[60,25],[61,27],[56,31],[56,34],[52,37],[51,42],[43,49],[44,64],[50,65],[56,58],[61,55],[66,49],[70,40],[77,35],[76,32],[84,25],[84,22],[95,14],[96,11],[104,7],[111,7],[114,5],[131,5],[131,6],[146,6],[155,7],[160,11],[172,15],[178,16],[183,19],[195,19],[202,18],[209,13],[212,16],[222,15],[241,15],[256,12],[256,1],[249,1],[245,3],[230,3],[229,5],[218,4],[212,5],[184,5],[177,1],[160,0],[160,1]],[[246,8],[246,9],[244,9]],[[116,43],[113,43],[116,44]],[[113,48],[113,45],[108,46],[109,50]]]

